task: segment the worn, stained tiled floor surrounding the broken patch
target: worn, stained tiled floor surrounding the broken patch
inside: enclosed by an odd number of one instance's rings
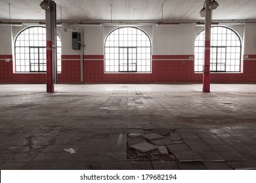
[[[212,84],[211,93],[201,92],[202,84],[45,90],[44,84],[0,85],[0,169],[256,167],[255,84]],[[184,141],[178,152],[191,149],[204,161],[127,162],[127,133],[154,128],[175,129]]]

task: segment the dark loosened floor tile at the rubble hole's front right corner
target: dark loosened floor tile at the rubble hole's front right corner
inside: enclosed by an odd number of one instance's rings
[[[203,161],[203,158],[194,151],[173,152],[179,161]]]

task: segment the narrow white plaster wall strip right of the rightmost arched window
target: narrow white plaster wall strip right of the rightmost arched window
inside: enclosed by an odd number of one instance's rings
[[[256,54],[256,24],[245,24],[244,54]]]

